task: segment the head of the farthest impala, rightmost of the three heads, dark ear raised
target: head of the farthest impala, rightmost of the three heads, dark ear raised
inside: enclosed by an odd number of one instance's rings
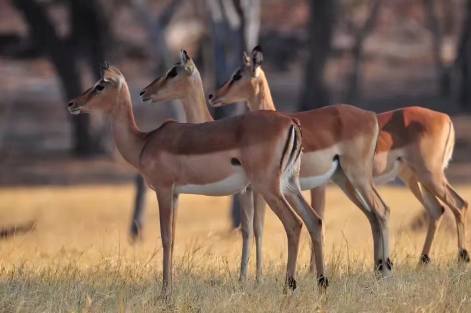
[[[209,104],[220,107],[238,101],[248,101],[260,92],[263,54],[259,45],[250,56],[244,52],[243,65],[237,69],[224,85],[209,95]]]

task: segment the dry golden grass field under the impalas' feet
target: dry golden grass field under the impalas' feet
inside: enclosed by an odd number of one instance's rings
[[[457,189],[471,200],[471,187]],[[456,235],[442,227],[432,263],[418,267],[425,232],[414,232],[409,224],[420,204],[401,187],[380,192],[391,207],[394,276],[374,277],[367,220],[337,187],[329,187],[325,248],[330,285],[324,295],[307,274],[305,228],[294,294],[282,292],[287,240],[269,209],[264,280],[255,286],[252,253],[250,278],[243,285],[238,282],[242,240],[229,232],[229,198],[182,195],[173,296],[163,302],[158,210],[151,192],[144,239],[132,246],[132,185],[1,189],[0,226],[34,220],[36,229],[0,241],[0,311],[471,312],[471,274],[456,263]]]

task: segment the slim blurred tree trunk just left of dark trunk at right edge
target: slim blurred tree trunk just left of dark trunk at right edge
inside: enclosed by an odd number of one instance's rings
[[[442,59],[443,34],[435,6],[436,0],[424,0],[426,26],[432,33],[432,54],[439,77],[439,92],[440,96],[448,98],[451,95],[451,67],[445,65]]]

